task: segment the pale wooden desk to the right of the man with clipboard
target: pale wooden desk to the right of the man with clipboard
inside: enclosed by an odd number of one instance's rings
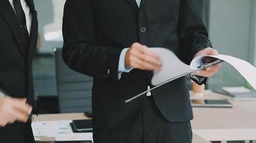
[[[205,99],[227,98],[206,93]],[[232,101],[233,108],[193,108],[193,132],[209,141],[256,140],[256,101]]]

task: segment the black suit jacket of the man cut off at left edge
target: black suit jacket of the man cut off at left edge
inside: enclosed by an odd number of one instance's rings
[[[33,104],[32,58],[37,44],[37,12],[32,0],[27,0],[32,13],[27,56],[22,52],[21,32],[17,16],[9,0],[0,1],[0,89],[7,95],[27,98]],[[31,122],[15,122],[0,128],[0,141],[3,143],[30,143],[32,137]]]

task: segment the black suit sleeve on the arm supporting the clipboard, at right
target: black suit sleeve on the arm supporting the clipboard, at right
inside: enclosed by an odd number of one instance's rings
[[[206,47],[212,47],[204,23],[204,2],[202,0],[181,0],[178,35],[180,39],[180,59],[190,64],[193,57]],[[206,84],[206,77],[191,78],[197,84]],[[198,80],[200,79],[200,80]]]

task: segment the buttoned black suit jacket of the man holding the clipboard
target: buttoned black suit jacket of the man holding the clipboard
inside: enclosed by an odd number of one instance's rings
[[[140,116],[146,97],[127,104],[124,100],[152,86],[150,71],[133,69],[118,79],[122,49],[134,42],[165,47],[189,64],[199,50],[211,46],[203,19],[202,0],[142,0],[140,9],[135,0],[67,0],[63,59],[71,69],[94,79],[94,127],[130,127]],[[169,122],[193,118],[185,78],[152,94]]]

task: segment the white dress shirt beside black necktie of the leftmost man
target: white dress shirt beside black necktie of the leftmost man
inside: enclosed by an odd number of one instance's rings
[[[9,0],[10,4],[12,5],[12,9],[14,9],[14,0]],[[32,14],[30,13],[30,9],[29,6],[27,5],[25,0],[20,0],[20,2],[22,3],[22,9],[25,13],[26,16],[26,21],[27,21],[27,31],[30,34],[30,30],[31,30],[31,24],[32,24]],[[15,9],[14,9],[15,11]]]

